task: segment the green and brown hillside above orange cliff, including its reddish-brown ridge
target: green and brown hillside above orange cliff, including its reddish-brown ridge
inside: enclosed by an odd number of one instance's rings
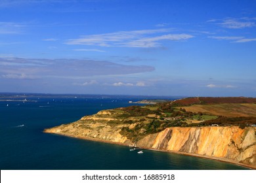
[[[186,98],[144,107],[118,108],[116,111],[119,114],[116,113],[116,118],[123,118],[122,123],[131,124],[123,127],[120,133],[134,141],[144,135],[163,131],[167,127],[238,125],[244,128],[256,125],[256,104],[253,102],[256,102],[256,99],[244,97]]]

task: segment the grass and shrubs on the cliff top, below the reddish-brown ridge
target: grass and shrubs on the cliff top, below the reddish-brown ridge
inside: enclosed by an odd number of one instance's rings
[[[227,116],[227,114],[229,116]],[[251,115],[249,118],[236,115]],[[226,117],[224,117],[226,115]],[[121,125],[121,135],[133,142],[167,127],[201,127],[211,125],[238,125],[244,128],[256,124],[255,104],[215,104],[175,107],[172,102],[156,105],[130,106],[105,110],[96,114],[102,123]],[[104,120],[104,118],[112,120]],[[100,122],[100,119],[97,121]]]

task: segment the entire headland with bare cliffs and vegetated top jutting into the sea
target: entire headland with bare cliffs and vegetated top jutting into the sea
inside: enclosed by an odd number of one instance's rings
[[[136,143],[140,148],[256,169],[255,101],[245,97],[196,97],[115,108],[45,129],[45,133],[126,146]]]

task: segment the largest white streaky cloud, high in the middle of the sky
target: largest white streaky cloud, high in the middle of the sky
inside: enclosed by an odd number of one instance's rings
[[[151,48],[161,46],[163,40],[179,41],[190,39],[188,34],[163,34],[171,29],[148,29],[140,31],[117,31],[98,35],[86,35],[78,39],[70,39],[66,44],[83,44],[93,46],[117,46]]]

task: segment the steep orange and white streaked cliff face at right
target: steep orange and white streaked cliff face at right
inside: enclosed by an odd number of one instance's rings
[[[151,148],[224,158],[256,168],[255,127],[170,127],[158,133]]]

